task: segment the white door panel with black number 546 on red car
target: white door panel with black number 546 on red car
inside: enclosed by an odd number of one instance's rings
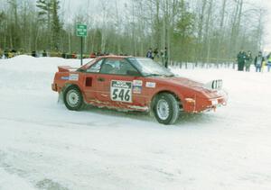
[[[112,101],[132,103],[132,86],[130,81],[112,80],[110,97]]]

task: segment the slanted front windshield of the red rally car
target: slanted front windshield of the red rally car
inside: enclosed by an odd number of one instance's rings
[[[129,58],[130,62],[137,68],[145,77],[164,76],[173,77],[173,73],[167,68],[162,67],[159,63],[152,59],[144,58]]]

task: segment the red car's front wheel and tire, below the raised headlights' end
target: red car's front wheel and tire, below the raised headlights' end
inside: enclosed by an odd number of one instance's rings
[[[169,125],[174,124],[180,115],[180,103],[169,93],[157,95],[154,98],[154,116],[157,122]]]

